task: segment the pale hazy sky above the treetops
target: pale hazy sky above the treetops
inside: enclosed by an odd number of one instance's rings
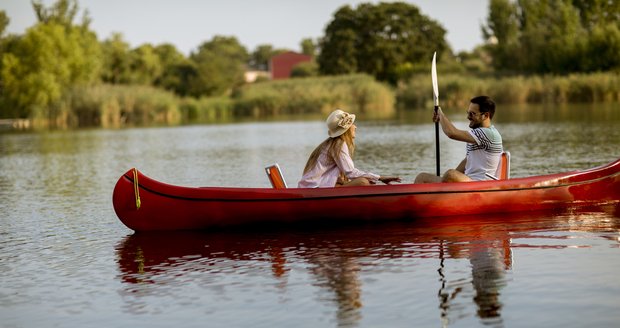
[[[54,0],[43,0],[46,6]],[[301,51],[302,39],[316,40],[340,7],[357,0],[78,0],[92,19],[99,40],[118,32],[132,48],[143,43],[171,43],[189,55],[214,36],[234,36],[252,52],[259,45]],[[423,15],[447,30],[452,50],[471,51],[483,43],[480,26],[489,0],[410,0]],[[2,0],[10,18],[5,33],[23,34],[36,23],[30,0]]]

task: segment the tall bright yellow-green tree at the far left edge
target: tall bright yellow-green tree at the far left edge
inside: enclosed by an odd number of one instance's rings
[[[33,6],[39,22],[2,53],[3,108],[11,116],[53,119],[70,87],[99,80],[101,48],[86,14],[81,25],[72,23],[75,1]]]

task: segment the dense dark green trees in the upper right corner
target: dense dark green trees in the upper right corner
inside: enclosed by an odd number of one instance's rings
[[[620,69],[620,2],[491,0],[483,34],[497,70],[567,74]]]

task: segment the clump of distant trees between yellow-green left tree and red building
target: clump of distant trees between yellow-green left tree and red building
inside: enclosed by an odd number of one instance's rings
[[[102,43],[102,80],[112,84],[152,85],[180,96],[219,96],[243,83],[247,51],[234,37],[216,36],[186,58],[171,44],[130,49],[122,35]]]

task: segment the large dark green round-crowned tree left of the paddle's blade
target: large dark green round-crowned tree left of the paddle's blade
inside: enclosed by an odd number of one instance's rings
[[[450,51],[446,30],[403,2],[343,6],[320,41],[323,74],[368,73],[396,84],[407,67],[427,62],[433,51]]]

